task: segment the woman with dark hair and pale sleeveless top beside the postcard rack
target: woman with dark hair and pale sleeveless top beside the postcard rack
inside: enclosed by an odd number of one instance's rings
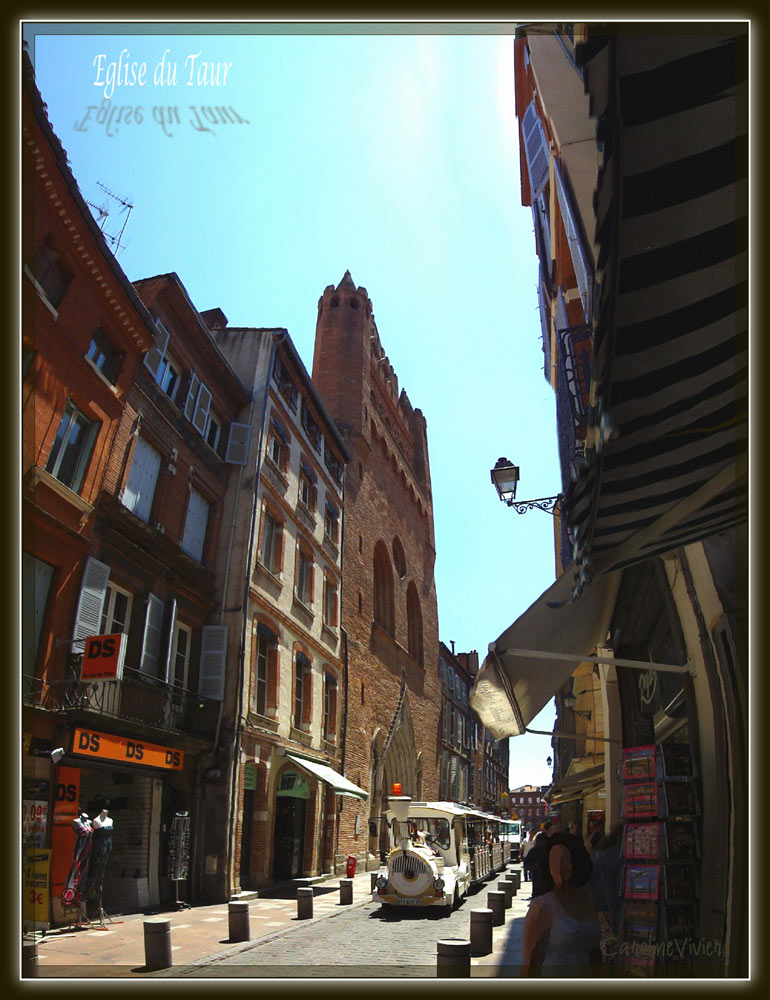
[[[549,838],[540,866],[553,888],[532,900],[522,934],[522,976],[601,975],[601,927],[586,888],[591,857],[576,837]]]

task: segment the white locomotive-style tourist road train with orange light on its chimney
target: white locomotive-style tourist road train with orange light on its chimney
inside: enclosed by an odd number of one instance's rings
[[[383,906],[443,906],[449,914],[474,884],[505,868],[499,817],[408,796],[388,804],[394,846],[372,890]]]

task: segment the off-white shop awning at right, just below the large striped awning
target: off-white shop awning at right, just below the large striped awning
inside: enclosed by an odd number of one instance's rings
[[[604,644],[620,574],[595,577],[576,601],[570,601],[573,584],[570,567],[489,644],[470,704],[497,740],[523,735],[582,656]]]

